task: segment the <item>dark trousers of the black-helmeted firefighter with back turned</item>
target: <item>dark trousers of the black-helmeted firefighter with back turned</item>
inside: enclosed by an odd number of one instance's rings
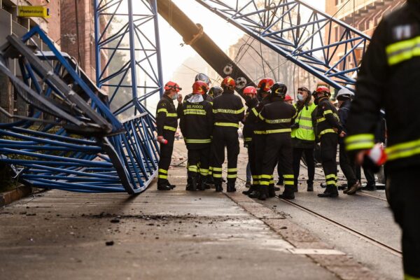
[[[290,134],[273,133],[265,137],[265,149],[262,158],[262,174],[260,186],[269,186],[274,183],[273,172],[276,163],[280,165],[283,173],[285,188],[292,189],[295,183],[293,175],[293,148]],[[293,191],[293,190],[292,190]]]

